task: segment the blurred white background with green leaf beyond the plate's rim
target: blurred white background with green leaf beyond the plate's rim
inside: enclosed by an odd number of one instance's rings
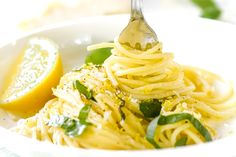
[[[236,0],[143,0],[144,12],[236,23]],[[81,17],[129,13],[130,0],[0,0],[0,45],[40,27]]]

